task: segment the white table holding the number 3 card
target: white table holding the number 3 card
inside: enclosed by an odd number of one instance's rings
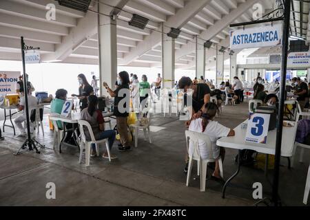
[[[292,157],[293,156],[293,148],[295,144],[295,136],[296,136],[296,129],[297,129],[297,123],[291,122],[291,121],[285,121],[289,124],[292,124],[293,126],[283,126],[282,130],[282,147],[281,147],[281,156],[282,157]],[[239,124],[235,129],[235,136],[232,137],[221,137],[216,144],[218,146],[222,146],[225,148],[233,148],[238,150],[238,168],[236,170],[236,173],[232,175],[223,186],[223,198],[225,198],[225,190],[227,187],[227,184],[238,175],[240,171],[240,152],[244,149],[247,150],[254,150],[258,153],[264,153],[267,155],[275,155],[276,153],[276,129],[273,131],[269,131],[267,135],[267,143],[266,144],[256,144],[251,142],[245,142],[245,135],[247,133],[247,129],[242,129],[241,126],[243,123],[247,123],[247,120],[245,122],[242,122]]]

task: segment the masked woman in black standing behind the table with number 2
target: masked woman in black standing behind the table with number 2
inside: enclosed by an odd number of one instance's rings
[[[87,82],[87,79],[84,74],[79,74],[78,80],[80,83],[79,87],[79,95],[72,94],[72,97],[78,97],[80,100],[80,109],[81,111],[85,108],[87,108],[87,98],[88,96],[94,95],[94,89],[90,85],[90,83]]]

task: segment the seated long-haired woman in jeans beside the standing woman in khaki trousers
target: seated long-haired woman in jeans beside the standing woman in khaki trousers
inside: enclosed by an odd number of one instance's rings
[[[98,105],[97,96],[94,96],[94,95],[88,96],[87,104],[88,104],[88,107],[86,107],[85,109],[83,109],[83,111],[81,111],[81,119],[90,123],[96,140],[103,140],[105,138],[108,139],[108,143],[109,143],[109,147],[111,151],[114,140],[115,140],[116,132],[113,130],[105,130],[105,126],[104,126],[105,121],[103,119],[103,115],[101,111],[97,109],[97,105]],[[85,131],[85,137],[86,137],[86,140],[90,140],[89,131]],[[92,157],[96,156],[95,144],[92,144],[91,156]],[[109,158],[109,156],[107,155],[107,152],[103,153],[102,157],[107,158],[107,159]],[[110,154],[110,157],[111,159],[117,158],[112,154]]]

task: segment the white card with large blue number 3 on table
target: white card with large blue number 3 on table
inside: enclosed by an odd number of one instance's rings
[[[269,114],[253,113],[247,121],[246,142],[266,144],[269,129]]]

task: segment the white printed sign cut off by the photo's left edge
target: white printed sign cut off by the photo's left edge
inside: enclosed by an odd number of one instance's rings
[[[0,71],[0,96],[15,94],[16,83],[21,72]]]

